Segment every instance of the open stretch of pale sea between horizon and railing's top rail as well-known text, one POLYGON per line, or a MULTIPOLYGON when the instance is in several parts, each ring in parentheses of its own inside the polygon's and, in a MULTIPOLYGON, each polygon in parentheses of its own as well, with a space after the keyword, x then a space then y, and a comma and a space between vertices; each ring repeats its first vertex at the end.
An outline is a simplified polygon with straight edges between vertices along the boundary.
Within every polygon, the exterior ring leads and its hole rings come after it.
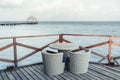
POLYGON ((120 22, 40 22, 37 25, 0 26, 0 37, 53 33, 120 35, 120 22))

